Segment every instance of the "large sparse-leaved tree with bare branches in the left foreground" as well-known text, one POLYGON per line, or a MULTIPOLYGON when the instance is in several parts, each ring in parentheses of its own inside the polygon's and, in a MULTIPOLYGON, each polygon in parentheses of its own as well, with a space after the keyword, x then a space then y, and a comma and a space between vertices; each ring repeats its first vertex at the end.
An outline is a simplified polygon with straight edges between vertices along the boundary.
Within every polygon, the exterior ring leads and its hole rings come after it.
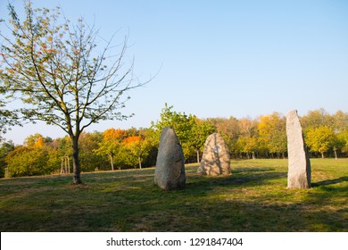
POLYGON ((128 99, 123 94, 142 85, 133 80, 133 63, 125 66, 127 38, 118 52, 111 41, 99 49, 104 40, 94 26, 83 19, 76 25, 62 19, 59 8, 34 9, 25 2, 24 21, 11 4, 9 11, 9 32, 0 33, 1 89, 21 101, 13 112, 56 125, 69 135, 73 182, 79 184, 82 131, 98 121, 126 119, 120 113, 128 99))

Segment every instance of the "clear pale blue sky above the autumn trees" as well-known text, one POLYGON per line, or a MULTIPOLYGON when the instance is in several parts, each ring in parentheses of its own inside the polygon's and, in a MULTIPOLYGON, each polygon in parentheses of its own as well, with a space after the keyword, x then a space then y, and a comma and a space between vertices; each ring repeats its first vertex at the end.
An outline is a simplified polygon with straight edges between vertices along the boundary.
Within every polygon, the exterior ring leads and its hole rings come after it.
MULTIPOLYGON (((0 0, 0 17, 7 15, 0 0)), ((10 0, 16 9, 22 2, 10 0)), ((129 35, 135 73, 148 79, 134 90, 124 113, 88 129, 149 127, 164 103, 199 118, 242 118, 297 109, 300 115, 348 107, 348 1, 33 1, 60 5, 70 21, 95 20, 100 35, 129 35)), ((116 37, 117 38, 117 37, 116 37)), ((120 40, 115 40, 120 43, 120 40)), ((61 137, 39 124, 13 128, 5 137, 21 144, 41 133, 61 137)))

